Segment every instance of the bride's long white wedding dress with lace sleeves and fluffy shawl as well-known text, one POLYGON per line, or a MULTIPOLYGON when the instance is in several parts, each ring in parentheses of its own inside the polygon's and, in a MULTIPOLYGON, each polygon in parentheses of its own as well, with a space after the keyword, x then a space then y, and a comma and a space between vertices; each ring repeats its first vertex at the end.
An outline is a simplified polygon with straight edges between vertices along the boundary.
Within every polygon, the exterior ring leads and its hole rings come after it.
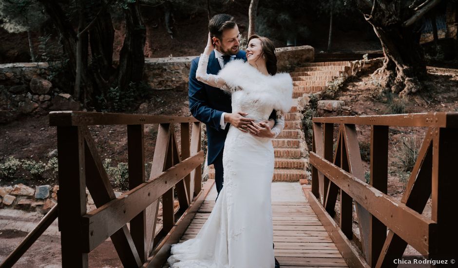
MULTIPOLYGON (((231 94, 232 111, 267 120, 290 110, 292 80, 288 74, 265 76, 242 60, 208 75, 202 55, 197 79, 231 94)), ((278 116, 272 131, 284 127, 278 116)), ((172 268, 274 268, 270 187, 274 152, 270 138, 260 138, 230 126, 223 152, 224 186, 207 222, 193 239, 172 245, 172 268)))

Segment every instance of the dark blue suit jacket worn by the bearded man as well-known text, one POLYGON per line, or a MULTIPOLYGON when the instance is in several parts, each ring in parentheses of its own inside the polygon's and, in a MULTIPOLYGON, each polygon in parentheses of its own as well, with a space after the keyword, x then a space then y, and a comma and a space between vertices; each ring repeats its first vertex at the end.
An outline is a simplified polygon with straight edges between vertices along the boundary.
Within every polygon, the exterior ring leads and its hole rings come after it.
MULTIPOLYGON (((247 60, 245 51, 239 51, 235 58, 247 60)), ((191 69, 189 73, 189 109, 192 116, 197 120, 207 125, 208 138, 208 164, 211 165, 216 156, 224 148, 224 141, 228 134, 229 126, 224 130, 221 129, 220 119, 223 112, 231 113, 232 106, 230 95, 223 90, 211 87, 205 83, 198 81, 195 78, 197 64, 200 57, 196 57, 191 61, 191 69)), ((221 70, 218 59, 215 58, 214 51, 209 56, 209 64, 207 73, 216 75, 221 70)), ((274 118, 275 111, 272 112, 269 118, 274 118)))

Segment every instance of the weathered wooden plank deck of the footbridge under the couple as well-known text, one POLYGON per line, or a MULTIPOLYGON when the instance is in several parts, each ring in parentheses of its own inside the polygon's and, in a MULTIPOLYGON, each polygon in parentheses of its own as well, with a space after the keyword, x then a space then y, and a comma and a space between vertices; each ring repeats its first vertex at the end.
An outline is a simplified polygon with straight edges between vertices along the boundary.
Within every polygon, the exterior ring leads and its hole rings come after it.
MULTIPOLYGON (((210 191, 180 243, 196 236, 215 204, 210 191)), ((348 267, 322 223, 304 202, 272 202, 275 257, 281 268, 348 267)), ((164 266, 168 267, 168 266, 164 266)))

